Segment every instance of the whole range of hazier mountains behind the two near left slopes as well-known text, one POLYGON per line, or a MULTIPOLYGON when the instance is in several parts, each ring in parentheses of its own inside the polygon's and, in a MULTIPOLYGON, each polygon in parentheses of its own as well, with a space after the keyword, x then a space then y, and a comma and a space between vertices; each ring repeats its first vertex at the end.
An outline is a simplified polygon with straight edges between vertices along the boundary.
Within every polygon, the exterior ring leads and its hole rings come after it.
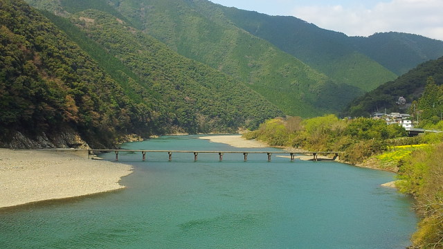
POLYGON ((425 37, 347 37, 295 17, 271 17, 207 0, 27 1, 64 17, 87 9, 107 12, 179 54, 244 82, 289 115, 337 112, 365 91, 443 55, 443 42, 425 37))

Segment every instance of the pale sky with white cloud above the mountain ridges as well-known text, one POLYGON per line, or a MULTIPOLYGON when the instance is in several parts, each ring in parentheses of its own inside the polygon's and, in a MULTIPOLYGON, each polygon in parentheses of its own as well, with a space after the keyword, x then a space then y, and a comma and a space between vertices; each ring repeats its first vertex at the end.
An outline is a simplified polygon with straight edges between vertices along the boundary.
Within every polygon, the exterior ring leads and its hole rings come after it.
POLYGON ((443 0, 210 0, 268 15, 294 16, 349 36, 401 32, 443 40, 443 0))

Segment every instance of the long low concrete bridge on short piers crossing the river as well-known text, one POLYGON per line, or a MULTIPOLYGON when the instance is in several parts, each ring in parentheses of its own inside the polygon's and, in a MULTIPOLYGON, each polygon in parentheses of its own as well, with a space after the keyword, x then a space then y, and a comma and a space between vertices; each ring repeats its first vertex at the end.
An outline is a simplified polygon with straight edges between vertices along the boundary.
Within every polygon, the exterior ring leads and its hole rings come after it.
POLYGON ((268 156, 268 161, 271 161, 272 154, 283 154, 289 155, 291 161, 295 160, 296 154, 310 154, 313 156, 312 160, 317 161, 318 155, 334 155, 334 158, 337 158, 340 154, 343 154, 342 151, 297 151, 297 152, 289 152, 289 151, 164 151, 164 150, 142 150, 142 149, 89 149, 88 158, 91 158, 95 153, 102 152, 114 152, 116 154, 116 161, 118 161, 118 153, 119 152, 138 152, 141 153, 142 160, 146 160, 146 154, 148 153, 168 153, 168 160, 172 160, 172 154, 174 153, 185 153, 185 154, 193 154, 194 160, 197 161, 199 154, 218 154, 219 160, 223 160, 224 154, 243 154, 244 160, 248 160, 248 154, 266 154, 268 156))

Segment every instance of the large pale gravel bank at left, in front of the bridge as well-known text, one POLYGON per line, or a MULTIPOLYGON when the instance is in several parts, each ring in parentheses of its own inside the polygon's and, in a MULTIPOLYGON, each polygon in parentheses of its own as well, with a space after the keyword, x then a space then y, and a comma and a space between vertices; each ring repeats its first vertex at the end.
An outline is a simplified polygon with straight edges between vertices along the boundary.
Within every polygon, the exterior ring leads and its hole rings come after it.
POLYGON ((87 151, 0 149, 0 208, 118 190, 130 165, 87 158, 87 151))

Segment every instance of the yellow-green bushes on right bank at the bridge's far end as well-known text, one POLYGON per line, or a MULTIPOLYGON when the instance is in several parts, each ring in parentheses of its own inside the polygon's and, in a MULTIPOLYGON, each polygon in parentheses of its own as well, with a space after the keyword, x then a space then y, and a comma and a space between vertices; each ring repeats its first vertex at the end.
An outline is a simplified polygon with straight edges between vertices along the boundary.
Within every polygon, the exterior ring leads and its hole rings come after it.
MULTIPOLYGON (((298 117, 267 120, 260 128, 244 134, 271 146, 311 151, 345 151, 343 160, 356 164, 388 149, 388 139, 406 136, 406 130, 383 120, 338 119, 334 115, 302 120, 298 117)), ((405 140, 406 142, 406 140, 405 140)))

